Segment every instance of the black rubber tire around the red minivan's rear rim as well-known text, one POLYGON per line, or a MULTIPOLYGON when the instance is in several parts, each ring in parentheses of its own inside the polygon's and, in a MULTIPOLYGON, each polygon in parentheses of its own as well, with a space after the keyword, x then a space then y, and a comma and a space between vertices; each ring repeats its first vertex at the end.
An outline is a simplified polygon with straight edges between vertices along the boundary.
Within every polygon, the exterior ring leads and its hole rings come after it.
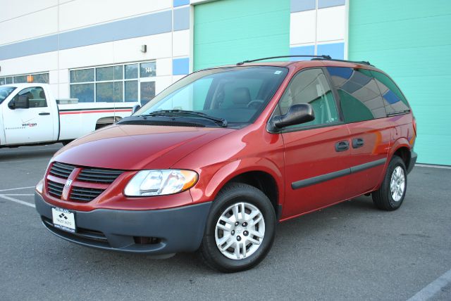
POLYGON ((373 197, 373 203, 381 210, 387 210, 387 211, 393 211, 397 210, 397 208, 401 207, 402 202, 404 201, 404 197, 406 195, 407 191, 407 171, 406 166, 404 164, 404 161, 398 157, 397 155, 394 155, 390 163, 387 167, 387 172, 385 173, 385 177, 383 179, 381 187, 377 191, 373 191, 371 193, 371 196, 373 197), (395 171, 397 167, 401 167, 402 171, 404 172, 404 192, 402 193, 402 196, 400 200, 394 200, 392 197, 392 193, 390 191, 390 181, 392 178, 392 174, 395 171))

